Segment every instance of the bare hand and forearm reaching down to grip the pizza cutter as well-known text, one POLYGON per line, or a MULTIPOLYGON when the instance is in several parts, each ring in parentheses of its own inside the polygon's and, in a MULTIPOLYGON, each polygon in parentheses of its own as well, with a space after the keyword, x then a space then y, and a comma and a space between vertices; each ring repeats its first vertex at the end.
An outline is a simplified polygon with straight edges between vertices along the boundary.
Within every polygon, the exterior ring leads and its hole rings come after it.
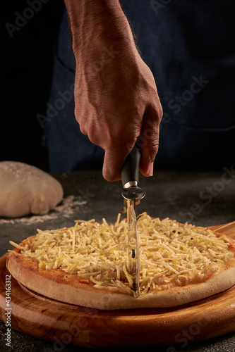
POLYGON ((105 151, 104 179, 116 181, 121 179, 123 162, 139 136, 140 171, 152 175, 162 107, 154 77, 140 58, 125 15, 118 5, 110 11, 108 18, 105 11, 102 13, 102 21, 97 17, 85 19, 90 23, 83 23, 85 38, 80 34, 78 40, 72 23, 71 28, 76 57, 76 120, 81 132, 105 151))

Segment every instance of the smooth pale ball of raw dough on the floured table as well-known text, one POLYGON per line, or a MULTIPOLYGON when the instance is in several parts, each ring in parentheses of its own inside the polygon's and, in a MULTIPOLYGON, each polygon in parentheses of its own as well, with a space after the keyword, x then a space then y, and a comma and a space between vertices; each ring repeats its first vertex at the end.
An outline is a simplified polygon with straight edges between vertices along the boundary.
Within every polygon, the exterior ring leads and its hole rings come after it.
POLYGON ((47 172, 17 161, 0 162, 0 216, 46 214, 63 195, 61 184, 47 172))

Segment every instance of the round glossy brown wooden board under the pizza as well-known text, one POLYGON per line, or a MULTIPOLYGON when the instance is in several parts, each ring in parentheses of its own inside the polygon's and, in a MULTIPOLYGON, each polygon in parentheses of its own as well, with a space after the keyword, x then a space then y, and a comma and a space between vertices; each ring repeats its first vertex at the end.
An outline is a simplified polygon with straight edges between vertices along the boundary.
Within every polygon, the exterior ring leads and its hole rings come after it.
MULTIPOLYGON (((235 222, 210 228, 235 239, 235 222)), ((0 272, 0 319, 6 322, 6 313, 11 311, 13 329, 54 341, 56 351, 67 344, 93 348, 183 348, 191 341, 235 331, 235 287, 176 308, 97 310, 46 298, 26 289, 11 276, 11 310, 7 310, 6 254, 0 258, 0 272)))

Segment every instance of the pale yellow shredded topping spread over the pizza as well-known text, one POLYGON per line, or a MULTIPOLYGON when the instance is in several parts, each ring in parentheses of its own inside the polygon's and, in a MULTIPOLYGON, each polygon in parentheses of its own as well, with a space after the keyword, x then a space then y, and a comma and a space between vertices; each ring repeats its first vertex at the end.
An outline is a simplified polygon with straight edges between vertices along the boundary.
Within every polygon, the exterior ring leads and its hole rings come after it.
MULTIPOLYGON (((76 220, 74 227, 38 230, 25 246, 10 241, 24 256, 37 258, 40 270, 61 269, 90 280, 95 288, 108 287, 135 296, 128 273, 126 220, 120 214, 114 225, 76 220)), ((181 275, 201 275, 217 270, 234 258, 231 239, 218 238, 211 230, 175 220, 138 217, 140 241, 140 296, 164 289, 181 275)))

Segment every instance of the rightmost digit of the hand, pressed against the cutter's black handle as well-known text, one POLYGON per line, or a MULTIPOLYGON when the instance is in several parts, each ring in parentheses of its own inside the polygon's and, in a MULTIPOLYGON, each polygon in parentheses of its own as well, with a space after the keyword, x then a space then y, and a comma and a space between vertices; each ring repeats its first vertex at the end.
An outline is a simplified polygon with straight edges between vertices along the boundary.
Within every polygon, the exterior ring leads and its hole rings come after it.
POLYGON ((159 122, 156 110, 148 108, 143 118, 139 140, 142 153, 140 172, 144 176, 153 175, 153 163, 159 146, 159 122))

